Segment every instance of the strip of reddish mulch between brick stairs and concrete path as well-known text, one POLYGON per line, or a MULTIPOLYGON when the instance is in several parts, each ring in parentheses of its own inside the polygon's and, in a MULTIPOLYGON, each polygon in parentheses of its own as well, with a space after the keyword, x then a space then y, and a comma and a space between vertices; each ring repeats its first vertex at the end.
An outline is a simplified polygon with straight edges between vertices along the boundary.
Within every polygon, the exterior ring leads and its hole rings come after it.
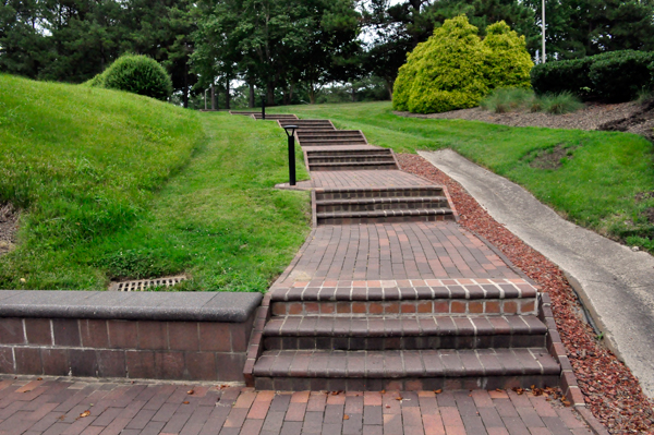
POLYGON ((549 292, 559 334, 586 406, 611 434, 654 433, 654 402, 638 379, 596 338, 580 316, 581 306, 562 271, 493 219, 456 181, 420 156, 399 154, 402 170, 446 185, 459 223, 500 250, 517 267, 549 292))

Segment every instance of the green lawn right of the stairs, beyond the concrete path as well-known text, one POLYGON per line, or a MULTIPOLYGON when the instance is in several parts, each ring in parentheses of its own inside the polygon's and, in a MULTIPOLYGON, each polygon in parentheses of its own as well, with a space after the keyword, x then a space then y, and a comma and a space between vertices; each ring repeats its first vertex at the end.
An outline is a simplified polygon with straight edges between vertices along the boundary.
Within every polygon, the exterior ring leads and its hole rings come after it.
POLYGON ((269 112, 328 118, 337 128, 362 130, 372 144, 397 153, 452 148, 521 184, 578 225, 654 253, 653 145, 641 136, 402 118, 392 114, 390 102, 292 106, 269 112), (560 168, 530 165, 557 146, 571 157, 560 168))

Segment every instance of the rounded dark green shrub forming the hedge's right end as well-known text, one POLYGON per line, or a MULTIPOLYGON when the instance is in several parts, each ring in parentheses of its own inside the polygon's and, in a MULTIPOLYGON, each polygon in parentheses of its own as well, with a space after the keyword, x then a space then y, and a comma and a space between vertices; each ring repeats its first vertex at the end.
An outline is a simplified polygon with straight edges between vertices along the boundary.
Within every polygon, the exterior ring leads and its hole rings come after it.
POLYGON ((651 88, 652 74, 647 67, 654 61, 654 53, 623 50, 594 58, 589 77, 600 97, 628 101, 651 88))

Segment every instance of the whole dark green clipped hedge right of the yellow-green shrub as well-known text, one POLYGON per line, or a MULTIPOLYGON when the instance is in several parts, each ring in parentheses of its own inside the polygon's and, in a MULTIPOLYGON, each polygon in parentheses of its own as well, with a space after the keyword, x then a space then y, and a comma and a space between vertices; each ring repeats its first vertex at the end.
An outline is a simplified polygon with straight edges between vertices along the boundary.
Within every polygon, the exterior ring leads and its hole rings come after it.
POLYGON ((654 53, 634 50, 553 61, 532 69, 532 87, 538 95, 569 92, 582 99, 628 101, 652 89, 653 61, 654 53))

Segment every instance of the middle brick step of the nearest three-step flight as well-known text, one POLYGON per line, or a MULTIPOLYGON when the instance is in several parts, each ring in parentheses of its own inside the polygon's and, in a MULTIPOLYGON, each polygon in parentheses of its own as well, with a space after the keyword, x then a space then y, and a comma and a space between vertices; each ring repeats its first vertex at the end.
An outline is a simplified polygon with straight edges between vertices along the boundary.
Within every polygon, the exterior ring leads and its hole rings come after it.
POLYGON ((399 350, 538 348, 547 327, 536 316, 277 316, 265 349, 399 350))

